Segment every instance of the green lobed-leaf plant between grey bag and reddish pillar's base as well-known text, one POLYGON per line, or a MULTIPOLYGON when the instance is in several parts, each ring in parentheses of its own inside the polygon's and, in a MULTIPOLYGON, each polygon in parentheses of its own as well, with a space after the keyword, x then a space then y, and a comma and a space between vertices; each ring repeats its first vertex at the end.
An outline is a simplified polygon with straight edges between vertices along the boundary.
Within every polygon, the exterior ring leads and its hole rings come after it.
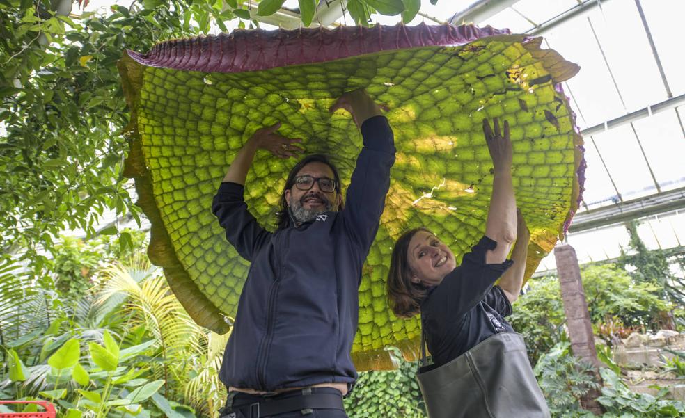
POLYGON ((581 408, 580 399, 590 390, 599 388, 592 365, 581 362, 569 349, 567 342, 556 344, 535 364, 535 376, 554 417, 590 414, 581 408))

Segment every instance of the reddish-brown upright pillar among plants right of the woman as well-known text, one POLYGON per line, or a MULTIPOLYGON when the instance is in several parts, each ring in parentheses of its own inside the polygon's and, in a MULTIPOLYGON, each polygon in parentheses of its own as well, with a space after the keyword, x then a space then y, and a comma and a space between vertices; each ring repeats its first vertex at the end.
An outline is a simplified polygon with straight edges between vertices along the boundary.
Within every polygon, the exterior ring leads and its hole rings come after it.
MULTIPOLYGON (((588 302, 585 300, 576 250, 568 244, 558 245, 554 248, 554 258, 561 286, 561 298, 566 312, 571 351, 576 357, 595 366, 595 376, 601 381, 595 335, 592 334, 592 321, 590 321, 588 302)), ((581 405, 595 415, 601 415, 601 405, 597 402, 597 397, 599 397, 599 391, 593 389, 581 398, 581 405)))

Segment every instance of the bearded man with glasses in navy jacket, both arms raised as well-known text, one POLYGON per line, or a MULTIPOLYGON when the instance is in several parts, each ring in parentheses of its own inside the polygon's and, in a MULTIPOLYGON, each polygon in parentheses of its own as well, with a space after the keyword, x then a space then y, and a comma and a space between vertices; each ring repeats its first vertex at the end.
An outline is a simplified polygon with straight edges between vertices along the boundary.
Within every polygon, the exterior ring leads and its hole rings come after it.
POLYGON ((345 195, 322 154, 299 161, 281 193, 278 226, 265 230, 247 210, 244 184, 256 150, 297 156, 299 140, 280 124, 258 129, 236 154, 212 211, 226 239, 251 262, 219 376, 229 396, 222 417, 347 417, 342 396, 357 374, 350 351, 357 327, 361 269, 378 230, 393 132, 364 90, 342 95, 363 148, 345 195))

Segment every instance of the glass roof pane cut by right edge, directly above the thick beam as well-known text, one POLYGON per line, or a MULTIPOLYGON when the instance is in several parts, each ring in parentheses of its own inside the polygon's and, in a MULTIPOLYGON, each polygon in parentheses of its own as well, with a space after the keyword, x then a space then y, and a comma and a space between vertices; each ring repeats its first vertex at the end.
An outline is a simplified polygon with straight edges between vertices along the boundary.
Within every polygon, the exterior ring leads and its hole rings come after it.
POLYGON ((685 140, 675 110, 637 120, 634 125, 661 190, 685 186, 685 140))

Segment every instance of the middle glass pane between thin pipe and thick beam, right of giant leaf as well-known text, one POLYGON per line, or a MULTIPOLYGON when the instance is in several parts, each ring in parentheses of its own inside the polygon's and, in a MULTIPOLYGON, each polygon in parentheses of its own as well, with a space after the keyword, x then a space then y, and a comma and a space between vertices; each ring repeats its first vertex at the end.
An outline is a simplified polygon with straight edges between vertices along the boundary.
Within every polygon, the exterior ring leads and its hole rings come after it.
POLYGON ((629 124, 602 132, 594 138, 623 200, 656 193, 647 163, 629 124))

